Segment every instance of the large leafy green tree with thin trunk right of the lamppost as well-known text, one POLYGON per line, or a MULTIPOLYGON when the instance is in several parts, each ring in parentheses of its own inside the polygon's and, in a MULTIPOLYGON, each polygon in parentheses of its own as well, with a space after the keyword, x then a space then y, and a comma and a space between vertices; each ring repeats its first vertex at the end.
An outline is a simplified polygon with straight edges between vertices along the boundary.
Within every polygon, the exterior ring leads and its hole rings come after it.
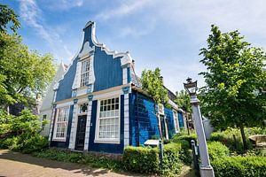
POLYGON ((207 48, 200 52, 200 62, 207 66, 207 72, 200 73, 207 84, 200 96, 213 126, 239 127, 246 150, 244 127, 261 125, 266 115, 266 57, 243 39, 239 31, 222 33, 212 26, 207 48))

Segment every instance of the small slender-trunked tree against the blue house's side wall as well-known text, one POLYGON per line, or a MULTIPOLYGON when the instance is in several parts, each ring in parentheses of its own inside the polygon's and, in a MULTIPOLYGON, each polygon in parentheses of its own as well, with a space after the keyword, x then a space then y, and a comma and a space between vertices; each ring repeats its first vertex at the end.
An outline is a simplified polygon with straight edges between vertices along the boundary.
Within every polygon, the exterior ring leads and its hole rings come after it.
MULTIPOLYGON (((160 78, 160 69, 155 68, 152 70, 144 70, 141 74, 142 89, 144 89, 149 96, 153 98, 154 110, 156 110, 156 104, 168 104, 168 90, 163 87, 160 78)), ((160 115, 157 113, 158 127, 160 132, 160 139, 162 139, 160 128, 160 115)))

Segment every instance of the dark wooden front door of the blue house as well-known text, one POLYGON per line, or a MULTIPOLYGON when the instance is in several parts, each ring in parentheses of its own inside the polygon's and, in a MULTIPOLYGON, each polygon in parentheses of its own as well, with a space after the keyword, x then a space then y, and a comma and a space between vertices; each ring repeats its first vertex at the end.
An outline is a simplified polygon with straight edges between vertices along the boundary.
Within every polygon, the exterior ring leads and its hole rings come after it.
POLYGON ((86 120, 86 115, 78 117, 74 150, 84 150, 86 120))

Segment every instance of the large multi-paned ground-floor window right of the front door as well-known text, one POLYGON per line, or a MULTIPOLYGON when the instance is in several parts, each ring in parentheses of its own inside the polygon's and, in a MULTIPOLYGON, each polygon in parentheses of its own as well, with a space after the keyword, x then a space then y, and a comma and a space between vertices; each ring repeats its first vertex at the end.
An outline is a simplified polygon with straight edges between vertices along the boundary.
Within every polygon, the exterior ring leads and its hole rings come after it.
POLYGON ((99 101, 97 141, 120 140, 120 100, 114 97, 99 101))

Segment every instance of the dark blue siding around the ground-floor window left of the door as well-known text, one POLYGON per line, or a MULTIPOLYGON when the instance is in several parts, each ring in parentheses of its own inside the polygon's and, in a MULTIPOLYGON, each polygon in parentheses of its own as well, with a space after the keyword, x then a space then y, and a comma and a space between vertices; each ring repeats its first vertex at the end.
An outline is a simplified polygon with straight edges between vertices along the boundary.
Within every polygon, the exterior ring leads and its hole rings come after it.
MULTIPOLYGON (((68 122, 67 122, 66 142, 51 141, 51 144, 50 144, 51 147, 68 148, 70 132, 71 132, 71 123, 72 123, 72 119, 73 119, 73 109, 74 109, 74 105, 71 105, 70 109, 69 109, 68 122)), ((53 125, 55 124, 55 121, 56 121, 56 119, 54 119, 53 125)), ((52 136, 54 134, 53 129, 54 128, 52 128, 52 132, 51 132, 51 140, 52 140, 52 136)))

